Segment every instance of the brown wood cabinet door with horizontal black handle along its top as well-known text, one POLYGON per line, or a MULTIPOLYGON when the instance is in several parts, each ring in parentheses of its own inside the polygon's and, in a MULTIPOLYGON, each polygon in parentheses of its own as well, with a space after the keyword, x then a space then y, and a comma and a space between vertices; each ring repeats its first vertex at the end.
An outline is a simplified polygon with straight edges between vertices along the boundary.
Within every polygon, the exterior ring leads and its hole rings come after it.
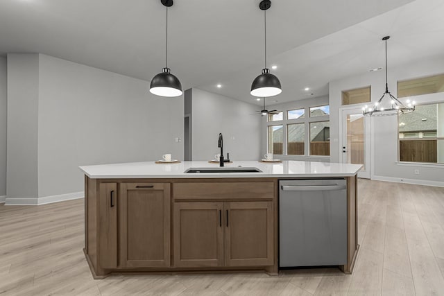
POLYGON ((170 265, 170 188, 169 183, 121 183, 122 267, 170 265))

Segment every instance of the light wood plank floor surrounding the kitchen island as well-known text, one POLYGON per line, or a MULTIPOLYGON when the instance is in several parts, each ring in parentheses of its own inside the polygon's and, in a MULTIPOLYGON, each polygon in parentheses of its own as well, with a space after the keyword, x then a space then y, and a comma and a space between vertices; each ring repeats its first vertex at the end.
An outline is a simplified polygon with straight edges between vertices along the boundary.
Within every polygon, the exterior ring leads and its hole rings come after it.
POLYGON ((444 188, 359 180, 353 275, 336 268, 92 279, 83 200, 0 205, 1 295, 444 295, 444 188))

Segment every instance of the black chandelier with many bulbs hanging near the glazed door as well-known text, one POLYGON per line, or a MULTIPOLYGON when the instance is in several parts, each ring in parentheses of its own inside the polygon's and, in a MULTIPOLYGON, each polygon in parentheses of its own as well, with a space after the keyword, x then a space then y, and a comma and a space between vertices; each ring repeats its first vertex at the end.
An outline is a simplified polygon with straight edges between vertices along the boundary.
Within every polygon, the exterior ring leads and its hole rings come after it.
POLYGON ((386 42, 386 92, 382 94, 382 97, 373 106, 365 106, 362 108, 362 114, 364 116, 389 116, 398 114, 407 114, 415 111, 415 101, 410 102, 407 100, 407 107, 395 98, 390 92, 388 92, 387 82, 387 40, 390 36, 382 38, 386 42))

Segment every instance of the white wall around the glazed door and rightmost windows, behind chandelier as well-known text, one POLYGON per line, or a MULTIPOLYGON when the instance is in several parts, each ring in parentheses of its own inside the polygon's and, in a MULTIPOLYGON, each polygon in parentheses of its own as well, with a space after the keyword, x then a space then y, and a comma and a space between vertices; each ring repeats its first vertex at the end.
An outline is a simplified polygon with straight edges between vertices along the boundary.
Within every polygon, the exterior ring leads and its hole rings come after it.
MULTIPOLYGON (((388 68, 388 89, 397 96, 397 81, 419 78, 444 73, 444 58, 431 58, 403 67, 388 68)), ((339 114, 341 107, 341 92, 358 87, 371 86, 372 102, 377 101, 384 93, 385 73, 378 71, 364 73, 330 82, 330 137, 339 139, 339 114)), ((443 93, 415 96, 420 103, 444 102, 443 93)), ((359 106, 358 106, 359 107, 359 106)), ((398 164, 398 119, 396 116, 370 118, 370 141, 372 150, 371 177, 374 180, 389 180, 396 182, 411 182, 418 184, 436 184, 444 186, 444 166, 398 164), (414 170, 420 171, 419 175, 414 170)), ((339 161, 339 145, 331 146, 331 161, 339 161)))

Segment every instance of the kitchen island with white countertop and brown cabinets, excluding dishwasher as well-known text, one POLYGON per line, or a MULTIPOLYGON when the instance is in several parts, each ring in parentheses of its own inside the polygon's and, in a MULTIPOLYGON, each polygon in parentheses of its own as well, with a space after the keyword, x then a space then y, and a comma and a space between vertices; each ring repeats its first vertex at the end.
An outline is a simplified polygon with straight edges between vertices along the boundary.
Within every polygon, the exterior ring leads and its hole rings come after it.
POLYGON ((94 278, 126 272, 278 273, 279 180, 342 178, 347 186, 346 263, 357 255, 355 164, 225 164, 260 172, 185 173, 208 162, 81 166, 85 173, 85 255, 94 278))

